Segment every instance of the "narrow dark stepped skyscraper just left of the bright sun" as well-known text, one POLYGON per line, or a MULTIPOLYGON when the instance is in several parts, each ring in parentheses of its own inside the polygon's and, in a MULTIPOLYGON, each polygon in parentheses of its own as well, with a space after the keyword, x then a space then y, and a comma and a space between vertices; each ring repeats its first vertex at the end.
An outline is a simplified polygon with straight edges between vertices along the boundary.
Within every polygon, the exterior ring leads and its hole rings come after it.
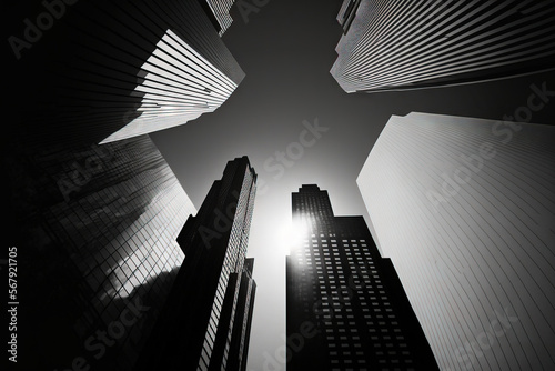
POLYGON ((256 173, 228 162, 178 243, 185 253, 170 299, 137 370, 240 370, 254 300, 245 262, 256 173), (238 347, 239 344, 239 347, 238 347))

